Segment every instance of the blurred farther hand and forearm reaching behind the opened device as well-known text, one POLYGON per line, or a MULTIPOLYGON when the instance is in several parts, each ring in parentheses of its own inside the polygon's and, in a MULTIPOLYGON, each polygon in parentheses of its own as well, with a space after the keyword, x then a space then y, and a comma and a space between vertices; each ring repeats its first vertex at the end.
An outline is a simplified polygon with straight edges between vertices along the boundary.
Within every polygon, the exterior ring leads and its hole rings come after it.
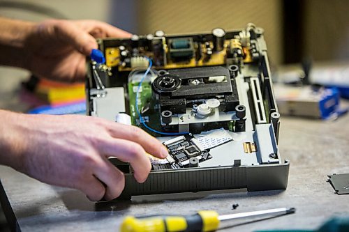
POLYGON ((46 20, 35 24, 0 17, 0 65, 30 70, 38 77, 83 81, 85 59, 95 38, 128 38, 130 33, 94 20, 46 20))

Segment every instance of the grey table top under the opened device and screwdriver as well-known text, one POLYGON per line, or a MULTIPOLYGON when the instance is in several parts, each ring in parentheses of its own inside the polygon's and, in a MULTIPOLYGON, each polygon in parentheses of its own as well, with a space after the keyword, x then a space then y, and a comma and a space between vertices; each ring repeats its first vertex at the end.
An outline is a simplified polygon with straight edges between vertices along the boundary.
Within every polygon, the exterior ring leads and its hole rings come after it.
POLYGON ((226 222, 222 226, 233 227, 223 231, 316 229, 332 215, 349 216, 349 194, 335 194, 326 182, 328 174, 349 173, 348 125, 349 115, 331 122, 281 118, 279 148, 290 160, 284 191, 168 194, 92 203, 81 192, 40 183, 8 167, 0 167, 0 177, 22 231, 119 231, 126 215, 184 215, 198 210, 223 215, 279 207, 295 207, 297 212, 251 224, 226 222), (239 208, 232 210, 232 203, 239 203, 239 208))

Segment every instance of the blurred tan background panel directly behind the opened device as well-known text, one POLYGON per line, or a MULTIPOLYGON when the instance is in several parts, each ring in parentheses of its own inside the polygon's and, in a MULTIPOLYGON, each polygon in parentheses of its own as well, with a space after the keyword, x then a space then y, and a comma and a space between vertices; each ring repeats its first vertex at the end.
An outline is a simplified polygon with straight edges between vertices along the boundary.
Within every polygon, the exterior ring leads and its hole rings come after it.
POLYGON ((282 1, 140 1, 138 4, 140 33, 188 33, 244 28, 248 22, 265 29, 272 63, 282 61, 282 1))

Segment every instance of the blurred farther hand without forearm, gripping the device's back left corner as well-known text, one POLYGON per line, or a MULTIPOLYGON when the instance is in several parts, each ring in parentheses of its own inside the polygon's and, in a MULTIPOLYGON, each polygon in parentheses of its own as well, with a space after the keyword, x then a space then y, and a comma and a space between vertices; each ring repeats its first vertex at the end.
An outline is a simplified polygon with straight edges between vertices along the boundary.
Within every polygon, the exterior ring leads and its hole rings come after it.
POLYGON ((26 68, 38 77, 81 82, 86 74, 86 56, 98 48, 95 38, 130 36, 94 20, 47 20, 36 24, 24 42, 26 68))

